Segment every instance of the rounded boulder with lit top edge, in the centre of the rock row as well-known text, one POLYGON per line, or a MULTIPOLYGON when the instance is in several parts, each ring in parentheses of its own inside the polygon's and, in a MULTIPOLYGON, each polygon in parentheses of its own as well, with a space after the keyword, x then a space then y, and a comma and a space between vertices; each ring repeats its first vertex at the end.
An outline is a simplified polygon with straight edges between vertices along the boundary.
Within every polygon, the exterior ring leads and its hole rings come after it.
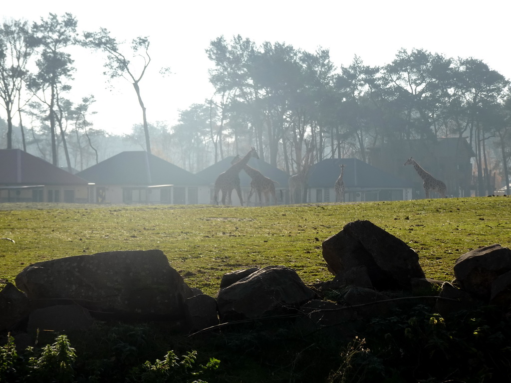
POLYGON ((221 322, 228 322, 295 312, 315 297, 294 270, 267 266, 220 289, 217 303, 221 322))

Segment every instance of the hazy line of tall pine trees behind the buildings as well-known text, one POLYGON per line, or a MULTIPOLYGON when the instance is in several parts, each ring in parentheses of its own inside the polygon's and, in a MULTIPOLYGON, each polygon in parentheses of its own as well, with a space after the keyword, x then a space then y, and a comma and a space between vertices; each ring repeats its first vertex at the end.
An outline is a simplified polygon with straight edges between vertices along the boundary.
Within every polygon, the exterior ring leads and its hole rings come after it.
POLYGON ((310 53, 221 36, 205 52, 214 94, 181 111, 178 124, 168 127, 148 122, 141 95, 149 47, 147 37, 137 37, 127 49, 103 28, 79 35, 68 13, 32 25, 4 21, 0 98, 6 124, 0 124, 0 145, 37 148, 54 164, 63 158, 79 170, 111 155, 112 148, 136 147, 192 172, 254 146, 261 158, 296 174, 306 162, 324 158, 366 161, 368 148, 390 141, 465 137, 476 153, 481 189, 497 169, 509 183, 509 81, 481 60, 402 49, 384 66, 364 65, 355 56, 349 66, 336 68, 326 49, 310 53), (94 95, 84 95, 78 105, 66 99, 75 73, 70 46, 103 52, 105 73, 132 84, 142 124, 135 123, 130 134, 118 137, 90 126, 94 95))

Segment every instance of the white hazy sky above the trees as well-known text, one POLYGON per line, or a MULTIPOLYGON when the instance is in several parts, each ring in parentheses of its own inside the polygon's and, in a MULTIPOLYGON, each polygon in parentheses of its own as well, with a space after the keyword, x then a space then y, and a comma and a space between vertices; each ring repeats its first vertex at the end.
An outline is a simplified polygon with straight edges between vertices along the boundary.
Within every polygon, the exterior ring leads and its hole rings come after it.
MULTIPOLYGON (((49 13, 72 13, 81 31, 104 27, 118 40, 149 36, 152 61, 141 82, 150 123, 177 122, 179 111, 211 98, 213 88, 205 49, 224 35, 240 34, 258 45, 285 42, 309 52, 330 50, 336 67, 348 66, 355 55, 366 65, 390 63, 401 48, 425 49, 447 57, 483 60, 511 78, 509 14, 511 2, 458 0, 143 0, 2 2, 0 18, 39 21, 49 13), (172 75, 158 71, 170 67, 172 75)), ((135 92, 126 80, 107 89, 99 54, 73 55, 77 71, 69 98, 76 103, 94 94, 94 127, 123 134, 142 123, 135 92)), ((0 109, 0 116, 5 117, 0 109)))

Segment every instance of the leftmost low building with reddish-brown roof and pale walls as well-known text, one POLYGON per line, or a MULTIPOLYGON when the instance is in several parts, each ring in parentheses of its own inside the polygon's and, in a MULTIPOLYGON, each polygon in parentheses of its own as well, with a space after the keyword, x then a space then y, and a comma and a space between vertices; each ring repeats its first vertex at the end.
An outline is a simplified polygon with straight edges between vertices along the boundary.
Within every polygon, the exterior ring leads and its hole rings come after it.
POLYGON ((89 202, 88 181, 19 149, 0 150, 0 202, 89 202))

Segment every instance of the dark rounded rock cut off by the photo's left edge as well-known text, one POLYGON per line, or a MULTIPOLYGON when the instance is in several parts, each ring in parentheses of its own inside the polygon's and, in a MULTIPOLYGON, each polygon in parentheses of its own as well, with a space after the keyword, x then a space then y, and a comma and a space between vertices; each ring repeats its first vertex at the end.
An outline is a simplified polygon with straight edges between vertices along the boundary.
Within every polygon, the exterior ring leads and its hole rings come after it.
POLYGON ((25 319, 30 313, 28 298, 16 289, 12 283, 7 283, 0 291, 0 331, 10 330, 16 323, 25 319))

